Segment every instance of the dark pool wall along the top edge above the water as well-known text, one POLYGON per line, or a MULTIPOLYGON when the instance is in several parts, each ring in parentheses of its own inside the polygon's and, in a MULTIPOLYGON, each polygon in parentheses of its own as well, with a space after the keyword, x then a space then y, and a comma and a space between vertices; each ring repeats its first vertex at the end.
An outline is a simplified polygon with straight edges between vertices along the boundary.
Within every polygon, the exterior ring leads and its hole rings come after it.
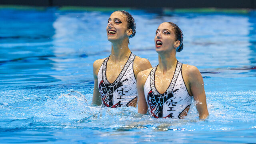
POLYGON ((3 5, 29 6, 99 6, 139 8, 251 8, 256 9, 256 0, 0 0, 3 5))

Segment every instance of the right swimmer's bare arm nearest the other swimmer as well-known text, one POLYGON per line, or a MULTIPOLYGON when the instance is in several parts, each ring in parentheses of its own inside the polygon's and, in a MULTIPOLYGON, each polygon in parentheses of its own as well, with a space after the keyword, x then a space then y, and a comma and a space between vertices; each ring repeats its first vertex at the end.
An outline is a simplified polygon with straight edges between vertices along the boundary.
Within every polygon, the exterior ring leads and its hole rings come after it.
POLYGON ((145 75, 144 72, 139 72, 137 75, 138 113, 140 114, 146 114, 148 112, 148 105, 144 96, 145 75))

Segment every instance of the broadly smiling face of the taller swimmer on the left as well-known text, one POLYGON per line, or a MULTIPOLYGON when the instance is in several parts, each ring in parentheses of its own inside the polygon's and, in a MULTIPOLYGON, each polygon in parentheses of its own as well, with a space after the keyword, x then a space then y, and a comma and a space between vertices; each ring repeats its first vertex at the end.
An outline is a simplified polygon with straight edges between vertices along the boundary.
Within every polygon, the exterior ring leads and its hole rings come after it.
POLYGON ((127 29, 126 16, 122 12, 113 12, 108 19, 108 26, 106 28, 108 41, 116 42, 118 40, 127 39, 132 34, 131 29, 127 29))

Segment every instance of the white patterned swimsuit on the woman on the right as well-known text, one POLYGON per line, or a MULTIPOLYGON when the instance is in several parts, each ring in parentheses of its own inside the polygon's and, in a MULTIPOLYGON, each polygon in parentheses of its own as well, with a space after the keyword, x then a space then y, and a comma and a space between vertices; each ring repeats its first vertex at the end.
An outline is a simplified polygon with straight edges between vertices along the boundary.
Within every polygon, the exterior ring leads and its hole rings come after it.
POLYGON ((160 94, 155 87, 156 68, 151 70, 144 85, 148 111, 155 118, 180 118, 180 114, 192 102, 182 77, 182 63, 177 62, 172 82, 164 94, 160 94))

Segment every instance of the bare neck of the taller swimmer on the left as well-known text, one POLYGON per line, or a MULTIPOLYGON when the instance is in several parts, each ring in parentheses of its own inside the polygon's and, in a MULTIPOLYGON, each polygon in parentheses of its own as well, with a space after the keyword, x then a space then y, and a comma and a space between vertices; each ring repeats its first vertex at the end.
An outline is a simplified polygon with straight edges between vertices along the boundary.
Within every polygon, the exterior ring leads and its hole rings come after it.
POLYGON ((109 60, 113 62, 120 62, 126 60, 126 57, 129 57, 131 51, 128 47, 128 43, 112 43, 111 55, 109 60))

